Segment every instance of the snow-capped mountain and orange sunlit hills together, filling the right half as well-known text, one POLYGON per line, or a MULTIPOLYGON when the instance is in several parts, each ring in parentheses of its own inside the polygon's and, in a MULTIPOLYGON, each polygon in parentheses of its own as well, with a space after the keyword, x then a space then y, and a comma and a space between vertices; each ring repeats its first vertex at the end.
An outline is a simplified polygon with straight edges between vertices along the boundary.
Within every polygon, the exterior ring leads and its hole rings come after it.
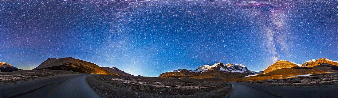
POLYGON ((294 75, 317 74, 325 72, 338 72, 338 62, 327 58, 310 60, 303 64, 292 63, 279 60, 270 65, 264 71, 255 72, 248 70, 242 64, 216 63, 214 65, 202 65, 196 70, 178 69, 172 72, 162 73, 162 78, 217 78, 230 80, 255 80, 255 79, 274 79, 287 78, 294 75), (237 79, 237 78, 251 79, 237 79))

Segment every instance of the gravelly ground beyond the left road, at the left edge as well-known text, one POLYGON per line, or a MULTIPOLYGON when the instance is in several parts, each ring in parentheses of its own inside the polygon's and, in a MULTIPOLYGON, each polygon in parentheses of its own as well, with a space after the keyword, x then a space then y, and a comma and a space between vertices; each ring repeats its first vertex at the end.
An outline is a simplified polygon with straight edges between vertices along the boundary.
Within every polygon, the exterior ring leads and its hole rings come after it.
POLYGON ((0 72, 0 85, 63 74, 82 73, 65 70, 18 70, 13 72, 0 72))

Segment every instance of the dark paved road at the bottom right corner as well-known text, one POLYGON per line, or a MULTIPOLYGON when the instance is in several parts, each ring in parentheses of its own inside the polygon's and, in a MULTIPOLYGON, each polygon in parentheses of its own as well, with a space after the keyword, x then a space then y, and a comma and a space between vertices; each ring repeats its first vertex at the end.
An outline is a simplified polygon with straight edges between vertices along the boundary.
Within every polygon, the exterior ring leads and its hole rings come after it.
POLYGON ((338 87, 291 88, 232 82, 230 98, 337 98, 338 87))

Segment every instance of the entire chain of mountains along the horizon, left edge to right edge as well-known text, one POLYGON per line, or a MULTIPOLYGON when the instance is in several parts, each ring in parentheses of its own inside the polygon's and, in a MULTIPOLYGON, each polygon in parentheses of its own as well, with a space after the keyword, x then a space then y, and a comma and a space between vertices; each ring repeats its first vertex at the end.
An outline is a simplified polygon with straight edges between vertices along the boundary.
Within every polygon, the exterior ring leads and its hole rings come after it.
MULTIPOLYGON (((82 73, 96 73, 116 76, 132 76, 116 67, 99 67, 98 65, 74 58, 48 58, 33 70, 69 70, 82 73)), ((0 72, 21 70, 7 63, 0 62, 0 72)), ((242 64, 216 63, 214 65, 201 65, 195 70, 177 69, 159 75, 161 78, 215 78, 224 80, 264 80, 276 78, 289 78, 294 75, 317 74, 325 72, 338 72, 338 62, 328 58, 312 59, 302 64, 279 60, 264 71, 248 70, 242 64)), ((141 75, 138 75, 141 76, 141 75)))

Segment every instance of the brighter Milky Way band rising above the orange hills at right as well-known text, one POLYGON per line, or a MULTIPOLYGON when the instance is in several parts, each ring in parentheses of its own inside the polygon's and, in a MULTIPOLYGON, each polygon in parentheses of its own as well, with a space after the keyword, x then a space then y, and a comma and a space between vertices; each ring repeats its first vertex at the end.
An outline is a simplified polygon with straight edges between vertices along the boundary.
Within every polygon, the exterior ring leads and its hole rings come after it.
POLYGON ((280 45, 280 50, 287 51, 290 31, 286 31, 287 12, 293 8, 293 2, 289 1, 237 1, 232 2, 240 9, 252 16, 252 20, 259 20, 261 31, 265 35, 268 51, 271 53, 271 62, 280 59, 276 45, 280 45))

